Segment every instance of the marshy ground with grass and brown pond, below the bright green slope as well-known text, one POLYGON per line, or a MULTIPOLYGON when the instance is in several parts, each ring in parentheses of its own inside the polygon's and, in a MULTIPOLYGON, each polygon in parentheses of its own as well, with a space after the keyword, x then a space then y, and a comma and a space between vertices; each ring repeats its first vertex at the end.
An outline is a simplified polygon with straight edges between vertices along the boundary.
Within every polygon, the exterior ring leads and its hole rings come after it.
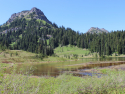
POLYGON ((40 92, 55 94, 55 92, 59 93, 61 90, 65 94, 66 92, 69 94, 71 91, 76 92, 76 94, 88 91, 92 93, 95 90, 95 92, 106 93, 115 90, 115 88, 121 91, 124 90, 124 88, 119 88, 119 86, 124 87, 121 84, 121 82, 124 83, 125 77, 123 75, 125 73, 124 61, 124 57, 94 58, 92 55, 85 56, 85 53, 82 58, 79 55, 77 59, 62 58, 61 54, 59 57, 51 56, 41 60, 34 53, 7 50, 0 54, 0 82, 2 82, 0 86, 3 88, 0 91, 12 92, 13 88, 16 88, 17 92, 22 92, 22 90, 35 92, 33 90, 38 89, 38 87, 42 88, 39 89, 39 94, 40 92), (119 69, 123 71, 117 71, 119 69), (113 81, 114 78, 115 81, 113 81), (21 83, 24 84, 23 88, 21 83), (4 88, 8 88, 8 85, 12 87, 7 91, 4 90, 4 88), (13 85, 16 85, 16 87, 13 85), (108 89, 104 88, 107 86, 108 89), (100 90, 98 90, 98 87, 100 87, 100 90), (19 88, 22 88, 22 90, 19 91, 19 88), (53 90, 50 91, 48 88, 53 88, 53 90))

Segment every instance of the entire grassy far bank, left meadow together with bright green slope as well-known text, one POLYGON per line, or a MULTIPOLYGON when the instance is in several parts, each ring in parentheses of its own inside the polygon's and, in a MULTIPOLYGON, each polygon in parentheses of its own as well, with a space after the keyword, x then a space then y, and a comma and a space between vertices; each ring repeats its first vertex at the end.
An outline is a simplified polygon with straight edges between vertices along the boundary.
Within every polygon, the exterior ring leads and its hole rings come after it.
POLYGON ((40 58, 36 57, 37 54, 35 54, 35 53, 26 52, 26 51, 22 51, 22 50, 6 50, 6 51, 3 51, 2 54, 0 54, 0 62, 9 61, 12 63, 31 63, 31 62, 37 63, 37 62, 55 62, 56 61, 56 63, 58 63, 61 61, 62 62, 65 61, 64 64, 68 65, 69 61, 72 61, 72 62, 70 62, 71 64, 79 64, 79 63, 84 62, 83 61, 84 58, 93 58, 94 57, 94 53, 92 55, 89 52, 89 50, 77 48, 75 46, 71 47, 70 45, 63 46, 63 47, 57 47, 54 49, 54 53, 57 56, 48 56, 47 58, 43 58, 43 60, 41 61, 40 58), (17 55, 16 55, 16 53, 17 53, 17 55), (90 53, 90 54, 88 55, 88 53, 90 53), (78 58, 74 58, 73 54, 77 54, 78 58), (68 58, 68 56, 70 56, 70 58, 68 58), (74 61, 74 60, 78 60, 80 58, 83 58, 82 62, 74 61))

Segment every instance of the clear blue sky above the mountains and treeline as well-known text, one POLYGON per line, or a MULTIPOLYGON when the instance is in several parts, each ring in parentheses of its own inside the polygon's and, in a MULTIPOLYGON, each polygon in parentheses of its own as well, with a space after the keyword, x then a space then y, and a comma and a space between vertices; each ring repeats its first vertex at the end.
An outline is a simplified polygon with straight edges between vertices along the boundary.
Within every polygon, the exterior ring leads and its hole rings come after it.
POLYGON ((58 26, 82 33, 91 27, 125 30, 125 0, 0 0, 0 25, 13 13, 32 7, 58 26))

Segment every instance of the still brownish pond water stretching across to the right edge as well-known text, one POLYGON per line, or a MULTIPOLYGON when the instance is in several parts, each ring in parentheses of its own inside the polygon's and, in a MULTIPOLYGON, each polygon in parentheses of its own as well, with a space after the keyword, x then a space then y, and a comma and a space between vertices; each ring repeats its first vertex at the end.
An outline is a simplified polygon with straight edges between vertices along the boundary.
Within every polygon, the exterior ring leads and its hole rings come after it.
MULTIPOLYGON (((25 75, 35 75, 35 76, 58 76, 59 74, 62 74, 63 71, 65 70, 71 70, 71 71, 76 71, 76 70, 82 70, 82 69, 90 69, 94 67, 107 67, 107 66, 112 66, 112 65, 120 65, 120 64, 125 64, 125 57, 109 57, 109 58, 86 58, 86 59, 80 59, 77 61, 64 61, 64 62, 54 62, 54 63, 47 63, 47 64, 18 64, 15 68, 16 73, 21 73, 25 75), (111 63, 99 63, 102 61, 112 61, 111 63), (114 61, 123 61, 123 62, 114 62, 114 61), (74 68, 66 68, 68 65, 73 65, 73 64, 83 64, 87 62, 94 62, 96 64, 89 64, 87 66, 73 66, 74 68), (97 64, 99 63, 99 64, 97 64)), ((11 73, 11 71, 14 68, 8 68, 4 72, 5 73, 11 73)), ((92 73, 80 73, 83 75, 89 75, 92 76, 92 73)))

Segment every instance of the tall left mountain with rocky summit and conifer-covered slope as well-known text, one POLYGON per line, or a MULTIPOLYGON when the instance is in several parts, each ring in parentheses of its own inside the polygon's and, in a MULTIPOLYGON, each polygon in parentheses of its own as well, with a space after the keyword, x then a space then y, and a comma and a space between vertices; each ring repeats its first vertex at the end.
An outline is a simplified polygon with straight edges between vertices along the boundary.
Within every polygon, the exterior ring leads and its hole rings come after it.
MULTIPOLYGON (((53 43, 47 44, 52 37, 52 30, 56 29, 44 13, 32 8, 11 15, 6 24, 0 26, 0 49, 17 49, 43 55, 53 54, 53 43)), ((51 40, 50 40, 51 41, 51 40)))

